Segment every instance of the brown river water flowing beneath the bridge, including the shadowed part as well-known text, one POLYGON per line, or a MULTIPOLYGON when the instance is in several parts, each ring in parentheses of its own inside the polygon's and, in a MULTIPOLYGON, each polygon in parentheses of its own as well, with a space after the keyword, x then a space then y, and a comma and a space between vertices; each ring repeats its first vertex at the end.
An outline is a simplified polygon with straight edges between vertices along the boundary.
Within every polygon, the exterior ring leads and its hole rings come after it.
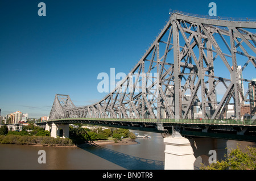
MULTIPOLYGON (((0 170, 163 170, 164 143, 162 135, 152 132, 151 138, 136 138, 135 145, 82 145, 80 147, 51 147, 0 144, 0 170), (46 151, 46 163, 38 163, 39 150, 46 151)), ((228 141, 236 148, 237 141, 228 141)), ((254 142, 241 142, 255 145, 254 142)), ((200 159, 197 159, 200 165, 200 159)), ((198 169, 198 166, 195 167, 198 169)))

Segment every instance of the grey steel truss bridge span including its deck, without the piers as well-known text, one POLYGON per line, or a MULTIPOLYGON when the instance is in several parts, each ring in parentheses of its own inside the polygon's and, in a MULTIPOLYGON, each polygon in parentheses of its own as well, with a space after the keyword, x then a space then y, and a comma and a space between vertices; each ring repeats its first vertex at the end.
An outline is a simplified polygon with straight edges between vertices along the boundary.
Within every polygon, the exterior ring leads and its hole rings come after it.
POLYGON ((256 22, 249 20, 174 12, 114 90, 83 107, 76 107, 69 95, 56 94, 48 123, 137 125, 158 131, 175 125, 183 134, 225 132, 255 141, 256 106, 250 120, 241 116, 245 102, 256 104, 250 96, 256 82, 242 77, 249 67, 256 76, 255 30, 256 22), (245 92, 242 85, 248 86, 245 92), (224 120, 229 105, 234 120, 224 120), (195 119, 198 108, 201 120, 195 119))

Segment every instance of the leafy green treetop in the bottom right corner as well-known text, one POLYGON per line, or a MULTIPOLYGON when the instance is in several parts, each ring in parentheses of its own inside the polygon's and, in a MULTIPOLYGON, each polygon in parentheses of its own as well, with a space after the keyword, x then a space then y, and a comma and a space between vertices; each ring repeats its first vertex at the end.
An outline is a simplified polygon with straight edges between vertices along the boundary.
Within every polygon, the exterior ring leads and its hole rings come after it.
POLYGON ((225 155, 226 159, 217 161, 208 166, 202 164, 201 170, 255 170, 256 169, 256 148, 246 146, 245 151, 240 149, 237 145, 237 149, 230 150, 228 155, 225 155))

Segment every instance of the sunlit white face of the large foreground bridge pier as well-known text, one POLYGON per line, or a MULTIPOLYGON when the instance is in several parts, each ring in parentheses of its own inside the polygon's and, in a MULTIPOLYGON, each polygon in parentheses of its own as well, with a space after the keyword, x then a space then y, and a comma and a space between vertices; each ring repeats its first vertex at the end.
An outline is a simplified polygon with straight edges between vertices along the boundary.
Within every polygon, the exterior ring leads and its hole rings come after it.
POLYGON ((196 160, 193 148, 185 137, 164 138, 166 144, 164 169, 165 170, 193 170, 196 160))

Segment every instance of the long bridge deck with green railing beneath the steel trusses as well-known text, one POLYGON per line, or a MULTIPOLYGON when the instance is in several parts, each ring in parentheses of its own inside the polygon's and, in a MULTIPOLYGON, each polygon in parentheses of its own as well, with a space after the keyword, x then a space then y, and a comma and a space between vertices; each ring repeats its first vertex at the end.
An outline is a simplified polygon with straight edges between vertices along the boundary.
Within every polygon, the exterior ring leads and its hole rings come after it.
POLYGON ((188 137, 212 137, 240 141, 256 141, 256 123, 251 120, 191 120, 191 119, 113 119, 74 117, 36 123, 44 124, 94 124, 106 127, 134 129, 147 132, 172 133, 179 126, 180 133, 188 137), (160 123, 160 125, 159 125, 160 123), (167 131, 167 132, 166 132, 167 131))

